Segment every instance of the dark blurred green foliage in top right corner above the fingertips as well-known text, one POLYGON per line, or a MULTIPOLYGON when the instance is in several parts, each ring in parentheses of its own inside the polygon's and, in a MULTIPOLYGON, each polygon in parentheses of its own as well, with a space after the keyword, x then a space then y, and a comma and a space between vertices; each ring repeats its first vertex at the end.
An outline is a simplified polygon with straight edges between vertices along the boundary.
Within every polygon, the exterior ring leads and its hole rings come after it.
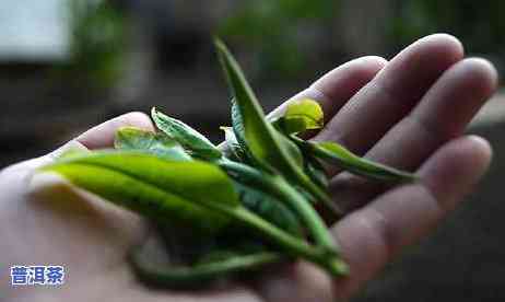
POLYGON ((406 44, 434 32, 459 37, 471 53, 505 55, 505 1, 398 1, 391 43, 406 44))

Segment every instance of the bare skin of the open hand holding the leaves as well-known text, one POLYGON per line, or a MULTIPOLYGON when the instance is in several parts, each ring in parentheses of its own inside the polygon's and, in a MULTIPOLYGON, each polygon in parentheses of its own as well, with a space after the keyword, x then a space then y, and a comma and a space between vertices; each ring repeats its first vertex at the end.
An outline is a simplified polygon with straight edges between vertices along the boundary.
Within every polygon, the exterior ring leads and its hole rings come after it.
MULTIPOLYGON (((350 213, 331 228, 351 274, 331 279, 308 263, 275 267, 257 280, 201 291, 152 290, 127 263, 131 246, 149 232, 134 213, 75 191, 33 171, 55 153, 0 173, 0 300, 12 301, 345 301, 408 245, 425 236, 488 170, 489 143, 463 130, 493 94, 497 74, 461 44, 436 34, 416 40, 390 61, 363 57, 344 63, 293 98, 321 103, 327 126, 315 140, 415 172, 415 184, 385 188, 331 170, 331 193, 350 213), (66 268, 59 288, 10 286, 11 265, 66 268)), ((281 105, 282 107, 282 105, 281 105)), ((70 142, 111 147, 118 127, 153 129, 130 113, 70 142)), ((67 147, 63 147, 68 148, 67 147)), ((61 151, 61 149, 60 149, 61 151)))

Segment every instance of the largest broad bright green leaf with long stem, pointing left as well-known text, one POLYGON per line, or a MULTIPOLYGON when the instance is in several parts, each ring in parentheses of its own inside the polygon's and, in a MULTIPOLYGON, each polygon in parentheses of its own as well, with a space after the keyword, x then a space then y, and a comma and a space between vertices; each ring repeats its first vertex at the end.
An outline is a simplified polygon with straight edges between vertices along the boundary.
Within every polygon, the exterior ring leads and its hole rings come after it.
POLYGON ((214 164, 102 151, 61 160, 38 172, 60 174, 158 224, 187 228, 196 235, 218 234, 231 222, 238 222, 291 256, 313 262, 332 275, 345 272, 337 254, 312 246, 244 208, 232 181, 214 164))

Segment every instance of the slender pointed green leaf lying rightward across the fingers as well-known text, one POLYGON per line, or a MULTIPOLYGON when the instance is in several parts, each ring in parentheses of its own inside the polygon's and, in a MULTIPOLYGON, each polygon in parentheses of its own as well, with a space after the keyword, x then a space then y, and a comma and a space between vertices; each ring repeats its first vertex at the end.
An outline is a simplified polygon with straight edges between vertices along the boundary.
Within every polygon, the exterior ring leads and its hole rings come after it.
POLYGON ((415 175, 369 161, 353 154, 344 147, 331 142, 305 142, 310 146, 315 156, 341 166, 342 169, 364 177, 387 182, 413 182, 415 175))

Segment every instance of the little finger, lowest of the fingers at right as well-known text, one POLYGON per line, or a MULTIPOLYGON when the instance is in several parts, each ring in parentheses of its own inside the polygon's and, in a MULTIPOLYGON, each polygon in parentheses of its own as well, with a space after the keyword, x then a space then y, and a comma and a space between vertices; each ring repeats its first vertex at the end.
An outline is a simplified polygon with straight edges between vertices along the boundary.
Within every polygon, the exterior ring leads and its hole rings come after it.
POLYGON ((334 233, 351 268, 348 279, 336 281, 339 294, 355 291, 431 230, 481 178, 490 160, 491 148, 482 138, 455 139, 421 166, 422 183, 392 189, 339 222, 334 233))

